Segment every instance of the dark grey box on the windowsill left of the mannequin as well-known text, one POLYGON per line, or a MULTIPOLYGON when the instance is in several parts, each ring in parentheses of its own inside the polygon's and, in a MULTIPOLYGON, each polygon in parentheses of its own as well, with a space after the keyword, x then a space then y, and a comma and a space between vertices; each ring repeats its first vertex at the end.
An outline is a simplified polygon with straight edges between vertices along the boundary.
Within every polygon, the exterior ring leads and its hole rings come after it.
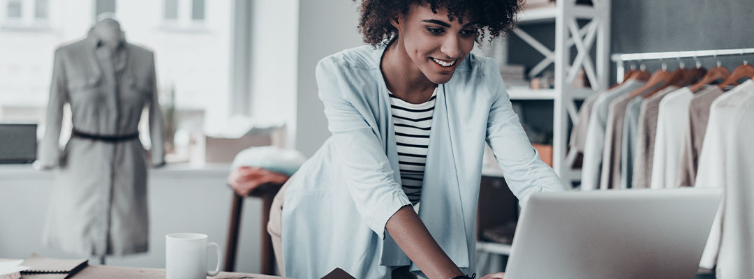
POLYGON ((37 124, 0 123, 0 164, 31 163, 37 156, 37 124))

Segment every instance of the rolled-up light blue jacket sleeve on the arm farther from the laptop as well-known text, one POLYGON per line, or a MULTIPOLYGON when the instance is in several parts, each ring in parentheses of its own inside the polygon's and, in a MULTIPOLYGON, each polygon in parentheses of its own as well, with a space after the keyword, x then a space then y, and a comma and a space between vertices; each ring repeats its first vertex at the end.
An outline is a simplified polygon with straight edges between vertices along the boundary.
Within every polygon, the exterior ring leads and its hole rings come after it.
MULTIPOLYGON (((369 126, 364 114, 351 103, 354 87, 349 81, 355 78, 348 66, 333 57, 317 64, 319 97, 325 107, 328 129, 333 133, 336 161, 342 168, 348 193, 356 204, 360 216, 385 238, 385 224, 405 205, 409 198, 394 179, 394 170, 375 130, 369 126)), ((355 81, 354 81, 355 82, 355 81)))

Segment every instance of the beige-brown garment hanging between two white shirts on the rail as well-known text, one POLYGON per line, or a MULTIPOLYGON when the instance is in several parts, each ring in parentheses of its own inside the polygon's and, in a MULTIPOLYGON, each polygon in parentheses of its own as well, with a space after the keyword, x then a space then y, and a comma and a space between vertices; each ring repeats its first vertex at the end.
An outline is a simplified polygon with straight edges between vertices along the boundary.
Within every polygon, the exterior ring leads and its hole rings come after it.
POLYGON ((702 90, 691 99, 688 106, 688 127, 681 143, 681 161, 678 167, 678 186, 694 186, 699 166, 699 155, 704 143, 710 108, 717 97, 722 95, 719 87, 702 90))

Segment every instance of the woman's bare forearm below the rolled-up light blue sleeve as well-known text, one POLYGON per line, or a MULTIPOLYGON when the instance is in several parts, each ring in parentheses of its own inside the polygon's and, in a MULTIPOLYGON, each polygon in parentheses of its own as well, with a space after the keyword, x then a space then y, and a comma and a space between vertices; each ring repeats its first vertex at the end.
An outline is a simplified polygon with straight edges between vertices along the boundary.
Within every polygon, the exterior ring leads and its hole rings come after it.
POLYGON ((401 207, 388 219, 385 228, 403 253, 430 279, 463 275, 461 269, 437 245, 411 206, 401 207))

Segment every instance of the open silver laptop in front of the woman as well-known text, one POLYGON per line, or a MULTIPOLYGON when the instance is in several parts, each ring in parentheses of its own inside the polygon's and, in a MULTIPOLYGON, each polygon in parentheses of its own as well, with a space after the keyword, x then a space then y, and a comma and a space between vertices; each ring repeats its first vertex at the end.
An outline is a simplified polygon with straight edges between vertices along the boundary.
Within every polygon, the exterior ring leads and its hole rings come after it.
POLYGON ((722 189, 532 195, 506 279, 694 278, 722 189))

